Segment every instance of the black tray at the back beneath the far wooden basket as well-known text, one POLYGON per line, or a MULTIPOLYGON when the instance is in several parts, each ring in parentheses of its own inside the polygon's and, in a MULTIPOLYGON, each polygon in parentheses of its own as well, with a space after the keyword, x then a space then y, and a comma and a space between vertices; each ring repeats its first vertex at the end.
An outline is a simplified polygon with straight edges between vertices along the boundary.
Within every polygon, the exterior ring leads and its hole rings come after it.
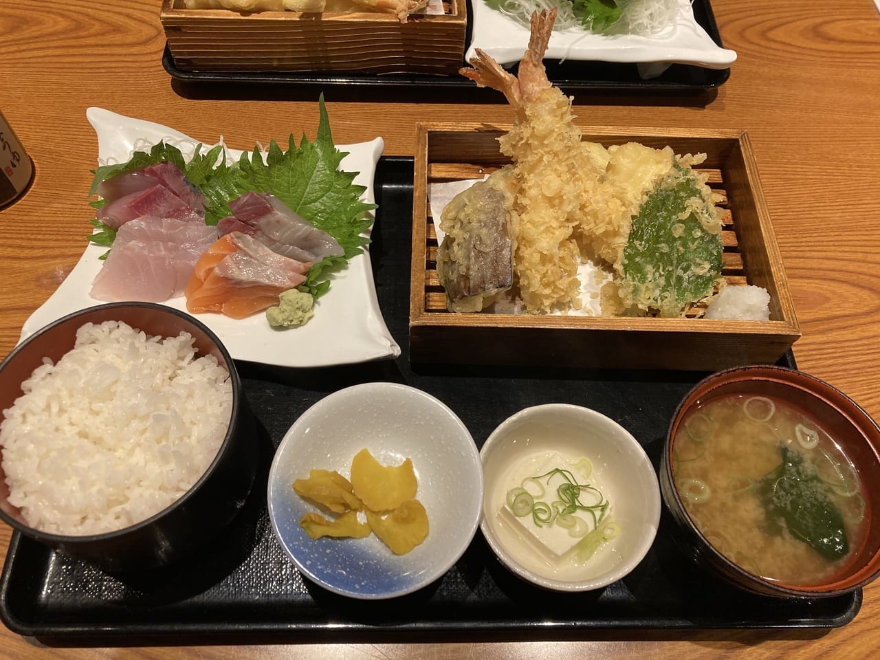
MULTIPOLYGON (((693 0, 693 16, 697 23, 706 30, 718 46, 722 46, 721 35, 715 23, 715 15, 709 0, 693 0)), ((471 41, 471 25, 468 23, 466 43, 471 41)), ((200 82, 220 84, 249 83, 267 84, 274 92, 277 85, 291 85, 304 88, 325 89, 334 87, 334 93, 346 92, 363 94, 381 90, 387 94, 397 92, 406 97, 417 94, 417 100, 469 100, 488 99, 498 101, 498 92, 488 88, 478 88, 472 81, 462 76, 428 76, 428 75, 361 75, 334 74, 326 72, 260 72, 260 71, 190 71, 182 70, 174 62, 170 48, 165 47, 162 56, 165 70, 173 78, 183 82, 200 82)), ((462 62, 464 64, 464 62, 462 62)), ((657 77, 642 79, 635 64, 617 62, 546 62, 547 76, 551 82, 568 93, 574 92, 611 92, 681 95, 714 92, 730 77, 730 69, 704 69, 686 64, 673 64, 657 77)), ((228 88, 225 93, 228 93, 228 88)))

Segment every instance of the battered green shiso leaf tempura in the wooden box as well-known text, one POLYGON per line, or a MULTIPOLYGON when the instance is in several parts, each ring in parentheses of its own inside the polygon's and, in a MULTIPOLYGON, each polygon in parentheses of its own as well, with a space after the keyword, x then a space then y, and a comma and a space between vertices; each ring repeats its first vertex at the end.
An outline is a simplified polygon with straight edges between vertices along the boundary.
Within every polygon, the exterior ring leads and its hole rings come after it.
POLYGON ((707 231, 693 212, 679 219, 693 198, 712 212, 701 187, 690 168, 676 165, 642 203, 623 251, 625 302, 675 317, 712 293, 721 275, 721 236, 707 231))

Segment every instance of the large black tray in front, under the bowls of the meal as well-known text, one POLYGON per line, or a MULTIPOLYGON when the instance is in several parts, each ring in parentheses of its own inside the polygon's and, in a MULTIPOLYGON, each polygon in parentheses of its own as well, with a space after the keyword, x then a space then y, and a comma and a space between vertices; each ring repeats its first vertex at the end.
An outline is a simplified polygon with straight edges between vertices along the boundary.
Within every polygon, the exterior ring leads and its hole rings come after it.
MULTIPOLYGON (((861 590, 838 598, 785 601, 720 582, 678 553, 675 527, 665 511, 654 546, 634 572, 590 593, 551 593, 520 581, 495 560, 480 533, 442 579, 402 598, 357 601, 304 580, 271 530, 265 482, 285 431, 327 393, 376 380, 414 385, 444 400, 480 445, 520 408, 582 404, 632 432, 656 466, 674 407, 705 375, 410 364, 413 159, 382 158, 375 190, 379 206, 370 253, 379 303, 403 355, 396 361, 327 369, 239 363, 261 422, 263 452, 261 478, 231 532, 206 544, 193 561, 124 577, 108 576, 16 532, 0 582, 0 615, 7 627, 55 644, 123 645, 576 637, 603 629, 824 628, 853 620, 862 605, 861 590)), ((781 363, 793 367, 791 354, 781 363)))

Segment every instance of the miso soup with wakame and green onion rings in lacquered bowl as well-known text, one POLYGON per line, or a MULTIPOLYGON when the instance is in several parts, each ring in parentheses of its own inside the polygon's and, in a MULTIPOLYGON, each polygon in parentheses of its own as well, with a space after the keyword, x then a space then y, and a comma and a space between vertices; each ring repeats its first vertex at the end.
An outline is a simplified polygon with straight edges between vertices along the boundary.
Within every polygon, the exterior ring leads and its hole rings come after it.
POLYGON ((703 536, 767 580, 821 583, 862 542, 863 485, 852 462, 786 401, 733 394, 701 403, 678 427, 671 470, 703 536))

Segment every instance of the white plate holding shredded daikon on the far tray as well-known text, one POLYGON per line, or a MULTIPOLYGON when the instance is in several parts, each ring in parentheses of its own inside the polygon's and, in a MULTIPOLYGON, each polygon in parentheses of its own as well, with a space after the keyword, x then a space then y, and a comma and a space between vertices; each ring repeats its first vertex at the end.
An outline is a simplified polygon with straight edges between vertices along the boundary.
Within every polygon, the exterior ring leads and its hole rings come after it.
MULTIPOLYGON (((676 24, 650 37, 594 34, 585 30, 554 31, 546 59, 681 63, 707 69, 727 69, 736 61, 736 52, 718 47, 693 18, 690 0, 678 2, 681 11, 676 24)), ((528 44, 529 29, 526 26, 492 9, 485 0, 473 0, 473 37, 466 53, 468 62, 475 55, 475 48, 484 50, 504 65, 519 62, 528 44)))

